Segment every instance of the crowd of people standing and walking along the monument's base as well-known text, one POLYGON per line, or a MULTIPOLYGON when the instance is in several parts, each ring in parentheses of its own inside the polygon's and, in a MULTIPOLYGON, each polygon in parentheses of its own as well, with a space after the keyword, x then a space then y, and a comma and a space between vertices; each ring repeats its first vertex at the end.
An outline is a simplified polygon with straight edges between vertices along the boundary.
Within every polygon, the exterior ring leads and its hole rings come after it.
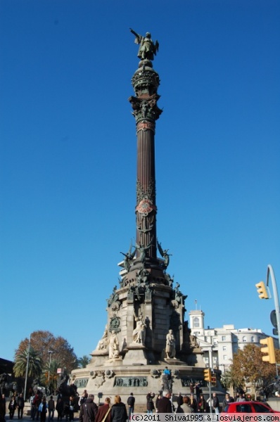
MULTIPOLYGON (((245 399, 242 394, 239 394, 235 399, 226 394, 222 404, 220 404, 215 392, 212 393, 211 397, 205 399, 200 385, 197 383, 191 388, 191 393, 184 396, 180 392, 178 395, 172 395, 170 390, 163 390, 156 397, 155 393, 148 392, 146 395, 146 412, 148 414, 153 414, 154 411, 158 413, 208 413, 212 409, 213 412, 219 413, 229 402, 245 399), (177 407, 174 406, 176 403, 177 407)), ((46 422, 47 419, 47 422, 53 422, 56 411, 58 422, 63 421, 63 418, 65 418, 65 421, 74 421, 75 412, 79 412, 79 422, 127 422, 134 413, 135 397, 133 392, 130 393, 126 404, 122 402, 120 395, 115 395, 113 404, 111 404, 110 397, 106 397, 104 404, 98 406, 94 402, 94 395, 88 394, 87 390, 84 390, 80 397, 70 396, 69 399, 64 401, 63 397, 58 395, 56 402, 53 396, 46 399, 41 392, 37 392, 30 397, 30 418, 32 421, 46 422)), ((23 394, 13 395, 8 402, 9 418, 13 419, 16 411, 18 419, 23 418, 24 407, 23 394)), ((5 422, 5 415, 6 398, 2 395, 0 422, 5 422)))

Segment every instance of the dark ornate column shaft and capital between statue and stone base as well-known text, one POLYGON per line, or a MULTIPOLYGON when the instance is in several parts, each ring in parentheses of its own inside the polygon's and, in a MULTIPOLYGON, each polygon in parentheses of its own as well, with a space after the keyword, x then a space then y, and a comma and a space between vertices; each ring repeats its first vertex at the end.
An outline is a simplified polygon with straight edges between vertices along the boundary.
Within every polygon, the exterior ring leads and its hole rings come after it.
POLYGON ((156 261, 155 204, 155 120, 162 110, 157 106, 160 80, 151 60, 141 60, 132 77, 136 96, 129 98, 136 120, 136 259, 156 261))

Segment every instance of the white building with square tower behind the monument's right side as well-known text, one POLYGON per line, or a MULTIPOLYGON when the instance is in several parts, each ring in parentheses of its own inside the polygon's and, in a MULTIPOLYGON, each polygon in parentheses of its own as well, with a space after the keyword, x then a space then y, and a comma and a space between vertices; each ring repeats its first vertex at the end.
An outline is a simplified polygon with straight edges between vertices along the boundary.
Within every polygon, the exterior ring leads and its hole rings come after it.
MULTIPOLYGON (((236 329, 233 324, 224 325, 222 328, 205 328, 204 312, 201 310, 189 312, 189 328, 204 352, 205 366, 219 369, 222 373, 229 369, 238 349, 242 350, 250 343, 260 346, 260 340, 269 337, 259 328, 236 329)), ((278 347, 276 338, 274 344, 278 347)))

